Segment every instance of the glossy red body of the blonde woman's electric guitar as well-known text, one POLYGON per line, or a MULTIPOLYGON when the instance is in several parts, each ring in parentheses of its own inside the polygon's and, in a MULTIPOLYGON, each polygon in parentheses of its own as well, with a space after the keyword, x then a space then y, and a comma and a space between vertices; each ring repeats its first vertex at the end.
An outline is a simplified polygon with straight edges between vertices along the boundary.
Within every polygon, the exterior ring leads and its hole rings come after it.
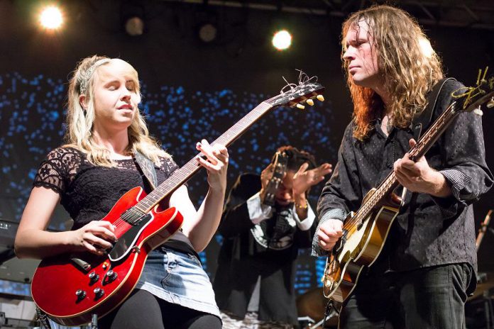
POLYGON ((108 255, 58 255, 40 263, 31 293, 50 318, 62 325, 89 323, 92 314, 104 316, 131 293, 149 252, 179 230, 183 221, 175 208, 159 211, 158 206, 141 216, 139 223, 123 221, 122 214, 144 196, 141 187, 131 189, 101 219, 116 225, 118 240, 108 255))

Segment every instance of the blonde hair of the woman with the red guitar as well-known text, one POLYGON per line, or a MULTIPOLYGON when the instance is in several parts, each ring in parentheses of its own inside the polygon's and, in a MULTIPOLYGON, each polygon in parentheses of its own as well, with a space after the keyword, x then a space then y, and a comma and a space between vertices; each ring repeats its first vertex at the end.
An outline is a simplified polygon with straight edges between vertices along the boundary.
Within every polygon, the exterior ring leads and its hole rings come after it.
MULTIPOLYGON (((116 163, 110 159, 110 152, 99 146, 93 138, 92 129, 94 123, 94 77, 98 68, 109 64, 112 60, 106 56, 94 55, 86 57, 77 64, 70 79, 67 99, 67 130, 65 141, 68 145, 87 154, 87 159, 94 165, 114 167, 116 163), (81 88, 82 84, 82 88, 81 88), (82 92, 81 92, 82 89, 82 92), (79 96, 86 96, 86 109, 82 108, 79 96)), ((128 64, 128 63, 127 63, 128 64)), ((130 64, 128 67, 133 77, 136 93, 141 99, 138 74, 130 64)), ((160 157, 170 157, 161 149, 158 142, 149 135, 146 121, 139 111, 134 116, 131 126, 128 127, 128 153, 136 151, 152 160, 155 165, 160 165, 160 157)))

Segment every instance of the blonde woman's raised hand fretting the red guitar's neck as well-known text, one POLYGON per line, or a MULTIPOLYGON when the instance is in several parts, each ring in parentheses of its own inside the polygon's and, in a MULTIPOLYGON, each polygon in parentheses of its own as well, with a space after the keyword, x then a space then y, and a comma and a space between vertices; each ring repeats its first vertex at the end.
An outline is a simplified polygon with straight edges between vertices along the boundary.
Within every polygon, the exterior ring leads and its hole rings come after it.
POLYGON ((207 182, 214 191, 226 190, 226 169, 228 168, 228 150, 221 144, 209 145, 207 140, 196 144, 206 159, 197 157, 199 165, 207 169, 207 182))

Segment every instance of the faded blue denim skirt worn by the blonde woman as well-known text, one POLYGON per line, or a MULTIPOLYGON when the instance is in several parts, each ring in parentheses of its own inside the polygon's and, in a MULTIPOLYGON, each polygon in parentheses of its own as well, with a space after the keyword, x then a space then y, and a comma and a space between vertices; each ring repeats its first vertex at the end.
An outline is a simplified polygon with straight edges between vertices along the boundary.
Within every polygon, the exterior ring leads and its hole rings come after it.
POLYGON ((148 255, 136 289, 221 318, 211 281, 195 255, 158 247, 148 255))

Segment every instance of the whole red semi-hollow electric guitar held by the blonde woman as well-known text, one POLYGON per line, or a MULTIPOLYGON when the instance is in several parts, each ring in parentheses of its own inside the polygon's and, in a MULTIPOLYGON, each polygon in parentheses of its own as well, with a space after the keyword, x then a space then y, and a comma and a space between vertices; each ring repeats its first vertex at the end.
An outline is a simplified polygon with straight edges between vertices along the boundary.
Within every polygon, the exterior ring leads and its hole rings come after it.
MULTIPOLYGON (((212 144, 230 145, 271 108, 300 107, 302 101, 312 105, 314 97, 322 101, 324 87, 316 80, 287 85, 286 91, 256 106, 212 144)), ((101 219, 116 226, 118 240, 108 255, 85 252, 43 260, 31 284, 38 308, 62 325, 82 325, 91 321, 92 314, 101 317, 119 306, 141 277, 148 253, 182 225, 182 215, 175 208, 159 211, 158 203, 199 170, 196 157, 150 194, 135 187, 116 202, 101 219)))

